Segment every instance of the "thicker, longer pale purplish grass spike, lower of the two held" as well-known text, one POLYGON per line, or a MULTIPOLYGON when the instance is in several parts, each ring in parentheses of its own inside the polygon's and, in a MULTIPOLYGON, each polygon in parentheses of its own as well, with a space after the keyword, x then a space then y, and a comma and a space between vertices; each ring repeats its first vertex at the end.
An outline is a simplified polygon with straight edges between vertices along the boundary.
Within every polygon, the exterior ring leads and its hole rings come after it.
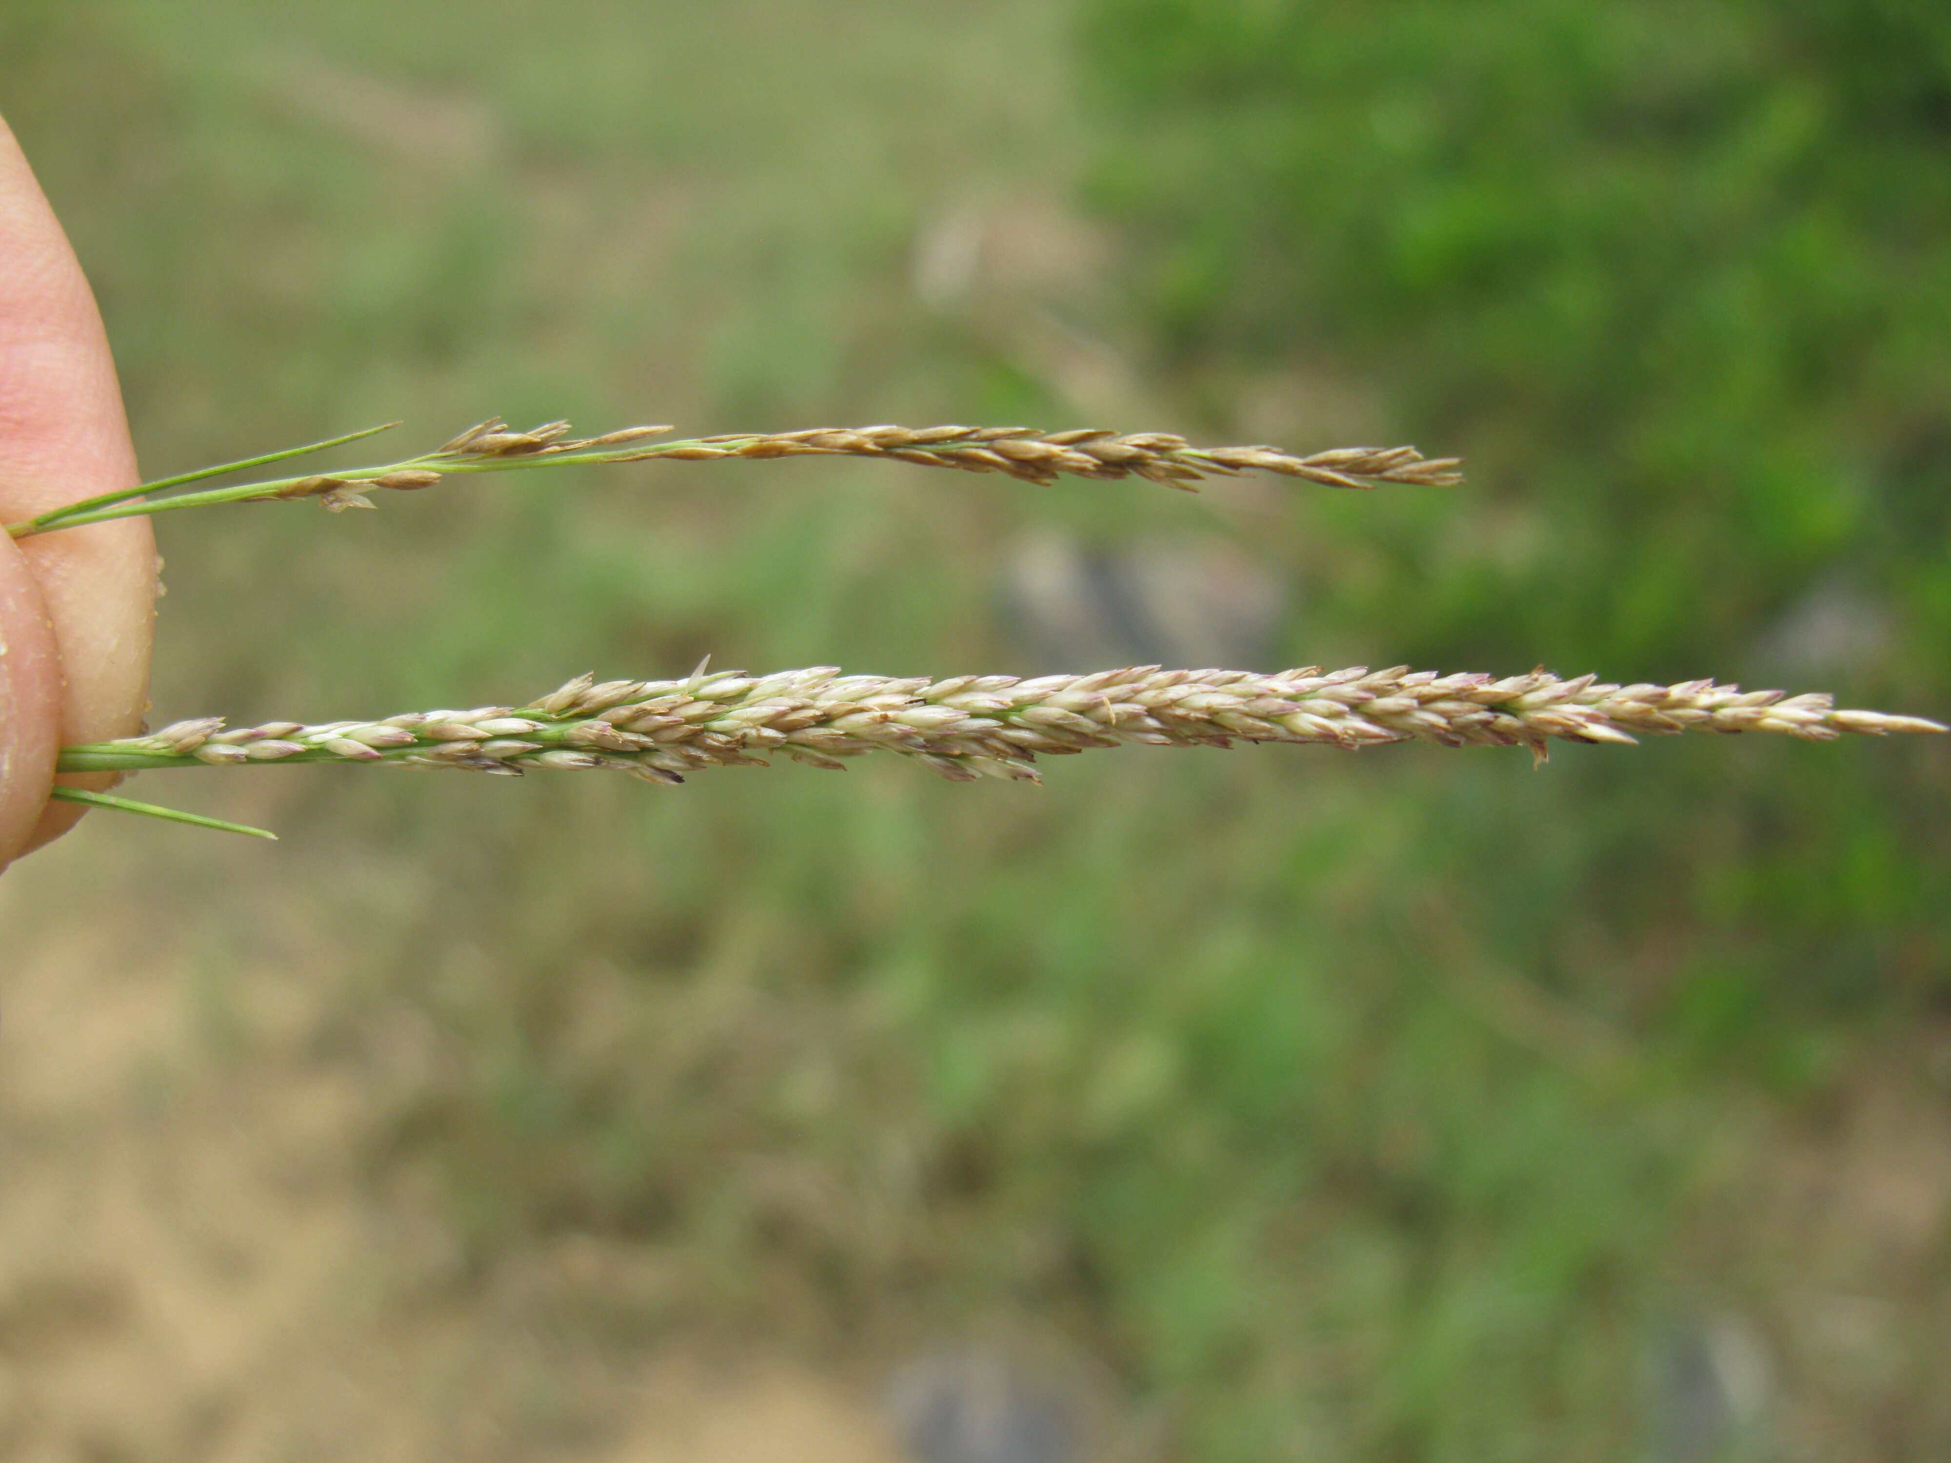
POLYGON ((531 767, 617 769, 681 782, 706 767, 761 763, 778 753, 837 769, 841 757, 892 751, 956 782, 1038 780, 1036 757, 1143 743, 1225 747, 1233 741, 1321 741, 1370 747, 1530 747, 1551 739, 1635 741, 1635 733, 1779 732, 1828 741, 1844 732, 1943 732, 1914 716, 1836 710, 1828 696, 1740 691, 1713 681, 1674 687, 1565 681, 1545 671, 1502 681, 1305 667, 1163 671, 1139 665, 1093 675, 925 677, 841 675, 819 665, 749 677, 698 673, 683 681, 605 681, 583 675, 529 706, 480 706, 224 730, 178 722, 146 737, 70 747, 62 771, 377 763, 451 767, 503 776, 531 767))

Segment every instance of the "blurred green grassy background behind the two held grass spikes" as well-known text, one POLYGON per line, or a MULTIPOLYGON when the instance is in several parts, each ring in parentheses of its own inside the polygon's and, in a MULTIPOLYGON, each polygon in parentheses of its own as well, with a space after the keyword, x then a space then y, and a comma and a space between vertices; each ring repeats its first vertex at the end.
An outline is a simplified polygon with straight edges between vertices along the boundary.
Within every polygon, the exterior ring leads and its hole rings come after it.
MULTIPOLYGON (((1052 531, 1276 585, 1266 669, 1951 708, 1930 6, 16 0, 0 86, 150 474, 492 412, 1469 460, 164 523, 164 718, 706 652, 1050 669, 1007 568, 1052 531)), ((359 1092, 334 1182, 441 1237, 375 1243, 373 1334, 574 1241, 677 1276, 552 1323, 601 1346, 999 1328, 1169 1457, 1914 1459, 1951 1445, 1947 792, 1941 745, 1867 739, 185 774, 139 796, 287 841, 96 817, 10 909, 55 962, 107 907, 179 995, 150 1120, 226 1069, 275 1106, 250 991, 302 983, 277 1071, 359 1092)))

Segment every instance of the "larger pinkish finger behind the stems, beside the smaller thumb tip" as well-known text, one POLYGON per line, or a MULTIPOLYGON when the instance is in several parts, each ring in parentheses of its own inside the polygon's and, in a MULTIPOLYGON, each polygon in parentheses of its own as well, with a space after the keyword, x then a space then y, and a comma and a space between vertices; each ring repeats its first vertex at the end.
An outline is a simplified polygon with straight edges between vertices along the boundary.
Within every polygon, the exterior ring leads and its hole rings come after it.
MULTIPOLYGON (((135 482, 135 449, 94 295, 0 121, 0 521, 16 523, 135 482)), ((68 529, 10 548, 53 626, 59 739, 133 735, 148 700, 156 605, 148 523, 68 529)), ((29 765, 20 763, 23 771, 29 765)), ((113 778, 62 780, 105 786, 113 778)), ((57 837, 78 813, 70 804, 47 806, 25 847, 57 837)))

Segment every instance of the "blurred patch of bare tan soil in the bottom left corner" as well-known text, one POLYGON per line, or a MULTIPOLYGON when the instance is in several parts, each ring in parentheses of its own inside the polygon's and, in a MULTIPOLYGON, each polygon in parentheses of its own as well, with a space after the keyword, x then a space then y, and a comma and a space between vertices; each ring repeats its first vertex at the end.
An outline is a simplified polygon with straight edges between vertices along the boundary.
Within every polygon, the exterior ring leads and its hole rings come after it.
POLYGON ((460 1276, 361 1172, 322 981, 37 919, 53 876, 0 886, 0 1459, 896 1463, 843 1379, 579 1325, 654 1258, 460 1276))

